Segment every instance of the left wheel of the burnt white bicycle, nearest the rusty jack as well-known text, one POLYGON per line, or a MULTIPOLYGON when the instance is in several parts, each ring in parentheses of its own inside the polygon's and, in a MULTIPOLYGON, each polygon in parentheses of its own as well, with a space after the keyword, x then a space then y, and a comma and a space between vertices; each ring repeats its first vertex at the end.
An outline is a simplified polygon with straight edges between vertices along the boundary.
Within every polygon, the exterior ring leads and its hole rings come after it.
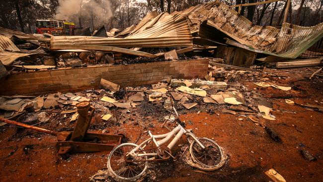
MULTIPOLYGON (((114 148, 109 157, 107 167, 110 174, 120 180, 134 181, 140 178, 147 170, 147 156, 129 158, 126 155, 137 147, 134 143, 124 143, 114 148)), ((142 150, 141 148, 139 150, 142 150)), ((137 153, 137 152, 136 152, 137 153)), ((145 154, 145 151, 137 154, 145 154)))

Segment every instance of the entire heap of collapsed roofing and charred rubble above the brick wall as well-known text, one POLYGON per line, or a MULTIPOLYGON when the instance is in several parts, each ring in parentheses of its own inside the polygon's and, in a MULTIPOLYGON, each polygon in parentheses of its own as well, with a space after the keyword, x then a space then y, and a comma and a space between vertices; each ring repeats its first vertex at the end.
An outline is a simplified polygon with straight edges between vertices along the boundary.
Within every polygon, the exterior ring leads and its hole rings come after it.
MULTIPOLYGON (((0 27, 0 61, 8 71, 182 60, 196 56, 218 56, 224 58, 226 64, 239 64, 236 66, 251 66, 256 59, 260 64, 265 62, 267 66, 277 68, 317 66, 323 61, 320 54, 314 59, 302 54, 322 38, 322 23, 313 27, 284 23, 281 29, 255 26, 219 1, 171 14, 149 12, 138 24, 117 32, 112 29, 106 34, 103 26, 93 36, 52 36, 47 33, 25 34, 0 27), (248 31, 250 29, 253 31, 248 31), (216 32, 224 37, 214 36, 216 32), (300 36, 307 38, 299 39, 300 36), (217 49, 217 46, 235 48, 217 49), (242 51, 228 57, 230 51, 227 51, 236 48, 242 51), (228 61, 232 58, 239 60, 248 52, 261 54, 252 60, 243 58, 239 63, 228 61)), ((217 81, 228 74, 216 72, 213 77, 217 81)))

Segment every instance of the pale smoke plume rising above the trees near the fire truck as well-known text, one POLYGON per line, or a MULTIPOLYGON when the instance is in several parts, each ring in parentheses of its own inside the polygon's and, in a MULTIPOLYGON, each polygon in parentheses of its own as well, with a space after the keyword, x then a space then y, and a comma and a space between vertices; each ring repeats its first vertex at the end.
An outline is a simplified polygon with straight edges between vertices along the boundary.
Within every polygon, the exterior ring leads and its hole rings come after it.
POLYGON ((92 26, 92 18, 94 27, 106 25, 112 17, 111 4, 109 0, 59 0, 54 18, 79 25, 80 15, 82 27, 92 26))

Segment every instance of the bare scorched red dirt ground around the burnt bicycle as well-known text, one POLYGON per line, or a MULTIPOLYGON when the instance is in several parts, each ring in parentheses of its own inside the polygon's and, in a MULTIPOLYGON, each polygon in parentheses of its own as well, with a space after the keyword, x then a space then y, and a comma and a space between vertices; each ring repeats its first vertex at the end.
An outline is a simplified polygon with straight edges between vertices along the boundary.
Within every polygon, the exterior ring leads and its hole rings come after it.
MULTIPOLYGON (((293 75, 295 76, 295 74, 293 75)), ((218 105, 201 104, 191 110, 180 110, 180 119, 186 128, 193 128, 198 137, 215 140, 229 154, 226 165, 215 172, 203 173, 187 166, 181 159, 181 147, 173 154, 178 160, 152 163, 157 174, 155 181, 162 182, 269 182, 265 171, 274 168, 287 182, 323 181, 323 114, 300 106, 288 105, 285 98, 299 103, 323 102, 322 80, 289 82, 297 88, 297 96, 272 88, 259 88, 252 82, 240 81, 249 90, 257 91, 273 103, 276 120, 261 119, 276 131, 282 143, 273 141, 263 127, 255 125, 243 116, 222 113, 218 105), (254 89, 255 88, 255 89, 254 89), (208 109, 208 111, 207 111, 208 109), (210 112, 210 109, 212 112, 210 112), (297 112, 289 113, 282 110, 297 112), (200 111, 200 113, 198 113, 200 111), (214 111, 214 112, 213 112, 214 111), (239 120, 242 118, 242 120, 239 120), (307 161, 301 149, 310 151, 317 160, 307 161)), ((145 103, 143 103, 145 104, 145 103)), ((148 105, 149 106, 149 105, 148 105)), ((142 107, 144 109, 146 107, 142 107)), ((140 108, 131 108, 130 113, 120 112, 126 118, 120 126, 107 125, 110 134, 123 132, 129 142, 135 142, 140 133, 149 129, 153 134, 166 133, 161 128, 160 115, 145 115, 140 108)), ((101 126, 100 117, 93 117, 91 125, 101 126)), ((54 128, 51 123, 39 127, 54 128)), ((102 132, 102 127, 90 131, 102 132)), ((103 127, 104 128, 104 127, 103 127)), ((142 134, 139 142, 147 138, 142 134)), ((0 181, 1 182, 86 182, 98 170, 106 168, 109 152, 72 154, 63 160, 55 150, 56 137, 36 131, 5 125, 0 128, 0 181)), ((185 136, 179 144, 185 144, 185 136)))

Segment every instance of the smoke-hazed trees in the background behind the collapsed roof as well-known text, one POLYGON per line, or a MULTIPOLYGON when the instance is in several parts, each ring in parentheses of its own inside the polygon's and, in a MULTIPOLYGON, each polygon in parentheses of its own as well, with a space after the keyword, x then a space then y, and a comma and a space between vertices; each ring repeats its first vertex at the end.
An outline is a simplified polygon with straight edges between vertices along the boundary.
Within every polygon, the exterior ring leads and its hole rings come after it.
MULTIPOLYGON (((36 19, 66 19, 79 27, 123 30, 136 24, 147 12, 181 11, 209 0, 1 0, 0 26, 35 32, 36 19)), ((264 0, 220 0, 228 5, 264 0)), ((240 14, 257 25, 282 24, 286 1, 242 6, 240 14)), ((323 0, 291 0, 287 22, 313 26, 323 22, 323 0)), ((238 8, 236 8, 238 11, 238 8)))

